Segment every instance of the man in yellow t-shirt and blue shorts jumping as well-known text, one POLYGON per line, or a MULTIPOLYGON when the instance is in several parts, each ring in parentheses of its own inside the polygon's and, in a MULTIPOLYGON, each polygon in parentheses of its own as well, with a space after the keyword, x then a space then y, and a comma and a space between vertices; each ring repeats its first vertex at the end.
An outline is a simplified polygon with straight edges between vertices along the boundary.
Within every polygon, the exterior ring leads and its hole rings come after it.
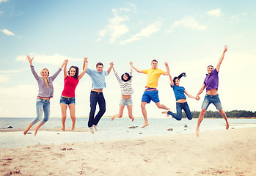
MULTIPOLYGON (((167 75, 168 73, 165 72, 164 70, 158 69, 158 62, 157 60, 153 60, 151 62, 151 66, 152 68, 149 68, 147 70, 139 70, 136 67, 134 67, 133 63, 130 63, 132 65, 132 67, 134 68, 134 70, 136 70, 138 73, 145 73, 147 74, 147 84, 145 86, 145 92, 142 95, 142 103, 141 103, 141 107, 142 107, 142 114, 145 120, 144 125, 142 125, 142 128, 145 128, 147 125, 150 125, 147 121, 147 110, 146 110, 146 104, 150 103, 151 100, 153 100, 153 102, 156 103, 156 106, 159 109, 166 109, 169 110, 169 108, 167 108, 167 106, 165 106, 164 104, 160 104, 160 100, 158 97, 158 90, 156 89, 156 87, 158 86, 158 79, 161 75, 167 75)), ((167 65, 166 65, 167 66, 167 65)))

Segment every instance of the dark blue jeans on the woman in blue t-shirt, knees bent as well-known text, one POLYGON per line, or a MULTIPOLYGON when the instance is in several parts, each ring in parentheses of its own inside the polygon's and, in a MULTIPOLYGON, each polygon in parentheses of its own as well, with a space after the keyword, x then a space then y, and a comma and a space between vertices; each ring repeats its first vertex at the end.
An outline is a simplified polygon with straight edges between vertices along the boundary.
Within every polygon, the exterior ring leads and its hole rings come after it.
POLYGON ((173 113, 172 111, 168 111, 167 114, 172 115, 172 117, 174 117, 176 120, 181 120, 182 119, 182 112, 181 112, 182 109, 185 111, 186 117, 188 117, 188 119, 191 120, 192 119, 191 111, 189 109, 189 105, 187 102, 176 103, 177 114, 173 113))

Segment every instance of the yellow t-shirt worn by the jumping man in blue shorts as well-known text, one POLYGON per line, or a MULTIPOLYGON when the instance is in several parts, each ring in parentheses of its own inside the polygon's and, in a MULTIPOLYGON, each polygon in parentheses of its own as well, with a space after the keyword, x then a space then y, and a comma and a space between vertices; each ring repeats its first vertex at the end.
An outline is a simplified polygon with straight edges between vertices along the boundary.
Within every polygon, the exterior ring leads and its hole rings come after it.
POLYGON ((147 84, 145 87, 156 88, 158 86, 158 79, 161 75, 165 73, 161 69, 152 69, 143 70, 143 73, 147 74, 147 84))

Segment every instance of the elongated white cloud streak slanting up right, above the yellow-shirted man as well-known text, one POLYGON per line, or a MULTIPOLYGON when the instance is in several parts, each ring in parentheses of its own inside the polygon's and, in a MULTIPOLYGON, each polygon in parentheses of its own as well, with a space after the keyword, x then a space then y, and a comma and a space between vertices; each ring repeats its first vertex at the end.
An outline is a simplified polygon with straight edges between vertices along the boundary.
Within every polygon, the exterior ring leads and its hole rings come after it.
POLYGON ((125 43, 132 43, 136 40, 141 40, 142 37, 150 37, 150 35, 158 32, 161 29, 161 25, 162 25, 162 23, 160 21, 151 23, 146 28, 142 29, 141 32, 139 32, 138 34, 135 34, 134 36, 132 36, 131 38, 129 38, 127 40, 121 41, 120 44, 123 45, 125 43))

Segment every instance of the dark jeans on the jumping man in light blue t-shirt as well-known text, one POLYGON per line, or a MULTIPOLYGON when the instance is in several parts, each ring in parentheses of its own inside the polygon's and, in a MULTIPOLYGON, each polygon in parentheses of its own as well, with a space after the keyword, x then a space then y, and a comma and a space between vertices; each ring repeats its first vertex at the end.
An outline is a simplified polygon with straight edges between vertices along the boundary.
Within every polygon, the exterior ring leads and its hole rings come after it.
POLYGON ((89 111, 88 127, 92 127, 92 125, 97 125, 100 121, 100 118, 106 111, 106 102, 103 96, 103 92, 91 91, 90 103, 91 111, 89 111), (99 104, 100 111, 98 111, 98 114, 94 117, 97 103, 99 104))

